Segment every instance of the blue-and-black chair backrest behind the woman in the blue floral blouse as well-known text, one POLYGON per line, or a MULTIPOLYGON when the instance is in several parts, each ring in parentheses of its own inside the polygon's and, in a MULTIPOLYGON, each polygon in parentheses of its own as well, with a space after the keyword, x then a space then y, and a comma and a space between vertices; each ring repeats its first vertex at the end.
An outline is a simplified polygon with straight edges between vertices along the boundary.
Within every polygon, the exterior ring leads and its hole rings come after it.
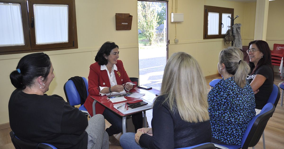
POLYGON ((252 147, 257 144, 274 110, 274 105, 272 103, 267 103, 262 108, 260 114, 252 118, 241 141, 242 149, 247 149, 248 147, 252 147))

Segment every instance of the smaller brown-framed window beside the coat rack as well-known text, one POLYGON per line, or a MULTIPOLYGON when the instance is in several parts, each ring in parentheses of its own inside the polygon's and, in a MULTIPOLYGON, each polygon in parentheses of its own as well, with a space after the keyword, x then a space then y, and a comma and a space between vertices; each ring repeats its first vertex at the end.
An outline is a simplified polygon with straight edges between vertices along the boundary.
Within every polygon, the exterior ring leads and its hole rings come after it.
POLYGON ((224 38, 228 26, 232 26, 234 9, 204 5, 203 39, 224 38))

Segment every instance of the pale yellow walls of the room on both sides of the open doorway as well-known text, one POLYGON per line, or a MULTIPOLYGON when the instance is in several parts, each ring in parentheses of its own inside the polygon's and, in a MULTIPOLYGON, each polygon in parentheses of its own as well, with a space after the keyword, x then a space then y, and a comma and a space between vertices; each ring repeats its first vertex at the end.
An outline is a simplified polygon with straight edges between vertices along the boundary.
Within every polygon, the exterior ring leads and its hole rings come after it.
MULTIPOLYGON (((283 28, 270 22, 283 24, 283 1, 273 1, 269 5, 267 38, 277 38, 283 43, 283 28), (274 9, 277 8, 277 9, 274 9), (270 10, 273 11, 270 11, 270 10), (274 12, 274 13, 272 13, 274 12), (281 13, 277 14, 277 13, 281 13), (271 15, 274 16, 271 17, 271 15), (279 31, 281 29, 281 33, 279 31), (276 34, 274 36, 274 34, 276 34)), ((172 12, 172 0, 168 3, 169 16, 172 12)), ((175 24, 169 20, 169 57, 178 51, 193 55, 202 67, 205 76, 217 74, 216 65, 220 50, 224 46, 223 39, 203 40, 204 5, 234 8, 234 15, 239 18, 234 23, 241 23, 243 45, 254 37, 254 21, 256 3, 240 3, 224 0, 178 0, 178 13, 184 13, 184 22, 177 23, 175 44, 175 24)), ((175 6, 174 6, 175 7, 175 6)), ((94 63, 98 48, 105 41, 116 42, 120 50, 120 60, 130 77, 139 77, 138 68, 138 31, 137 1, 135 0, 76 0, 76 18, 78 32, 78 49, 45 52, 51 58, 54 67, 53 79, 48 95, 57 94, 65 99, 63 85, 73 76, 88 77, 89 66, 94 63), (115 30, 115 13, 133 15, 131 30, 115 30)), ((273 39, 274 41, 275 39, 273 39)), ((270 43, 270 40, 268 41, 270 43)), ((278 41, 277 41, 278 42, 278 41)), ((276 42, 275 42, 276 43, 276 42)), ((273 45, 272 45, 273 46, 273 45)), ((271 48, 271 44, 270 44, 271 48)), ((8 101, 15 89, 9 79, 10 73, 16 69, 17 63, 25 54, 0 55, 0 124, 8 123, 8 101)))

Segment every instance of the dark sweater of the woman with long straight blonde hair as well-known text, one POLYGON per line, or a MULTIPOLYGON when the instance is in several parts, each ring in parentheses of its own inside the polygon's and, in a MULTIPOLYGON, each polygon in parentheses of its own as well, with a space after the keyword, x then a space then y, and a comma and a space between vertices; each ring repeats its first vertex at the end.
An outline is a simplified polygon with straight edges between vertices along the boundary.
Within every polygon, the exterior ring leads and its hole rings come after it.
POLYGON ((167 103, 159 96, 153 106, 153 136, 142 134, 139 144, 152 148, 184 148, 210 142, 212 137, 210 121, 190 123, 183 121, 178 111, 170 112, 167 103))

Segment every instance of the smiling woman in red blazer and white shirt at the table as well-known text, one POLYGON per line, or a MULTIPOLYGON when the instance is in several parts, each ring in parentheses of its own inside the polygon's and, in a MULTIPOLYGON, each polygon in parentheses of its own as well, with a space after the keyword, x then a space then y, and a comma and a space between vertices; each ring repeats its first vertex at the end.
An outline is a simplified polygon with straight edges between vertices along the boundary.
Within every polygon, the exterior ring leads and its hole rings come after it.
MULTIPOLYGON (((90 73, 88 77, 89 96, 87 97, 84 106, 91 116, 93 116, 93 102, 90 97, 92 95, 103 96, 111 92, 121 92, 124 89, 130 90, 133 88, 119 56, 118 46, 114 42, 105 42, 99 49, 95 63, 90 66, 90 73), (125 85, 123 85, 125 84, 125 85)), ((111 144, 120 145, 119 141, 113 136, 122 132, 122 117, 105 109, 99 103, 96 103, 96 114, 102 114, 105 119, 112 124, 106 128, 111 144)), ((142 113, 132 115, 132 122, 135 126, 135 131, 142 128, 143 119, 142 113)))

